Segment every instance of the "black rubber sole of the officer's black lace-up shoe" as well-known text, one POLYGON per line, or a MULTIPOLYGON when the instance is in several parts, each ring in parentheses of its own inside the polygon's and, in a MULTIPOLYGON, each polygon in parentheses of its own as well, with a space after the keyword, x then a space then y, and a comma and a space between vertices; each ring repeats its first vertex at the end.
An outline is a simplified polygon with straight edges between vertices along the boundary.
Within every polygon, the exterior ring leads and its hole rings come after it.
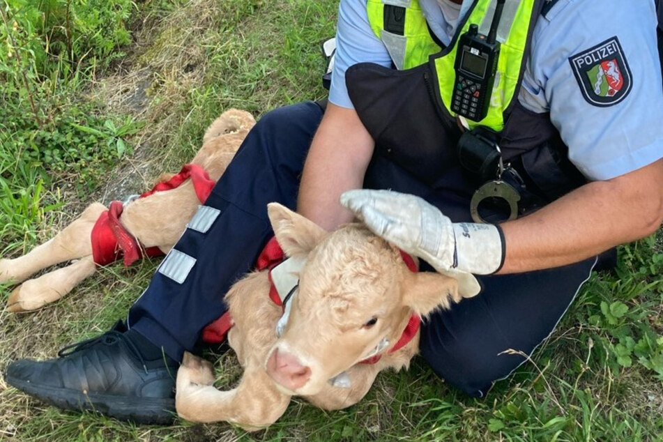
POLYGON ((138 424, 168 425, 176 417, 175 399, 152 397, 132 399, 116 395, 82 393, 68 388, 39 386, 29 381, 15 379, 13 376, 5 376, 5 380, 10 386, 59 409, 96 411, 105 416, 130 420, 138 424))

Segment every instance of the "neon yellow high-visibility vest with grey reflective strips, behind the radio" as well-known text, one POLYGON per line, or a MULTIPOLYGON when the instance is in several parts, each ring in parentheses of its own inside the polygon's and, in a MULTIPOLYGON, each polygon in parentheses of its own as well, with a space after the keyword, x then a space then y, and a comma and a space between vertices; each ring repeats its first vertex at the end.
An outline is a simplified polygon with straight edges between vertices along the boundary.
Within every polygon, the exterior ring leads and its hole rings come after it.
MULTIPOLYGON (((524 73, 526 50, 542 0, 509 0, 505 4, 498 40, 501 42, 496 79, 488 114, 482 121, 468 121, 471 128, 482 125, 496 132, 504 128, 505 113, 517 91, 524 73)), ((441 47, 429 29, 418 0, 367 0, 368 20, 374 33, 386 45, 397 69, 404 70, 432 61, 441 101, 451 116, 451 98, 456 72, 458 36, 471 24, 478 24, 480 33, 487 34, 496 6, 494 0, 477 0, 459 23, 452 43, 441 47)))

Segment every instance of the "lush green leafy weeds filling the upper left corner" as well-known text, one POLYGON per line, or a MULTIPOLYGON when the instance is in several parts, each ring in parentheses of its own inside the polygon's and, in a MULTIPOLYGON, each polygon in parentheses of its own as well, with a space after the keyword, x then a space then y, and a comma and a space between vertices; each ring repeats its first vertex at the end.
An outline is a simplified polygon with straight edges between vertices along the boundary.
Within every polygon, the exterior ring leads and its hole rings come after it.
POLYGON ((0 0, 0 240, 24 252, 84 198, 142 127, 86 91, 131 43, 128 0, 0 0), (70 196, 71 195, 71 196, 70 196))

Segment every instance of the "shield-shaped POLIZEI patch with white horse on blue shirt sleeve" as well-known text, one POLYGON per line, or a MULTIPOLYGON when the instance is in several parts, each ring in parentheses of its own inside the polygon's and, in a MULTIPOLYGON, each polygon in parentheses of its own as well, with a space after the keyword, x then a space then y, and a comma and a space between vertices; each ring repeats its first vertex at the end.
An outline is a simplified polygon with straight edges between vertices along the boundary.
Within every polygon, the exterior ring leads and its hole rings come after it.
POLYGON ((582 95, 590 105, 616 105, 630 93, 631 69, 617 37, 571 56, 569 61, 582 95))

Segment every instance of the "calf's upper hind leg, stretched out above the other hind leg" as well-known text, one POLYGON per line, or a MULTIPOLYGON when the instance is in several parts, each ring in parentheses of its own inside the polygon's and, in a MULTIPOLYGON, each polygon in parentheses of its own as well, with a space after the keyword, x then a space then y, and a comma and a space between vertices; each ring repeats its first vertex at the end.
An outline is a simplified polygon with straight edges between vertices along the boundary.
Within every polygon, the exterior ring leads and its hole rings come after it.
POLYGON ((106 208, 90 204, 81 216, 54 238, 15 259, 0 259, 0 283, 19 283, 43 268, 92 254, 90 235, 99 215, 106 208))

